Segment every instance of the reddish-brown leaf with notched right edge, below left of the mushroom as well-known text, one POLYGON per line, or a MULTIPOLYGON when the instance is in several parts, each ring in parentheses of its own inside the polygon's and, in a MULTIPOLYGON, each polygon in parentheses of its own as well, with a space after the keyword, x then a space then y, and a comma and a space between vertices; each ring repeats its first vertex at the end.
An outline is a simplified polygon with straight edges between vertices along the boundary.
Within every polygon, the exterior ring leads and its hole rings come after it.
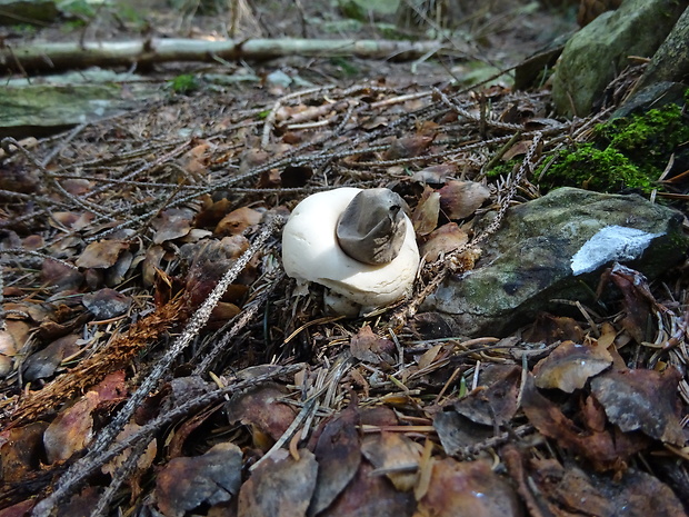
POLYGON ((287 390, 277 384, 263 384, 237 394, 226 404, 228 420, 257 426, 277 440, 296 416, 291 406, 279 401, 286 395, 287 390))

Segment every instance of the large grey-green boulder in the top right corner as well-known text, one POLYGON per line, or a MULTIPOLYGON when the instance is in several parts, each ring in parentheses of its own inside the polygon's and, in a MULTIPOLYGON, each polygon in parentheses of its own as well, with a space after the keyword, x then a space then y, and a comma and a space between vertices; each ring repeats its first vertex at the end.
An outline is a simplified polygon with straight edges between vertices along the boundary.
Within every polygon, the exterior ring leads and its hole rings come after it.
POLYGON ((628 64, 628 56, 650 58, 687 3, 675 0, 626 0, 577 32, 557 67, 552 98, 558 112, 587 116, 628 64))

